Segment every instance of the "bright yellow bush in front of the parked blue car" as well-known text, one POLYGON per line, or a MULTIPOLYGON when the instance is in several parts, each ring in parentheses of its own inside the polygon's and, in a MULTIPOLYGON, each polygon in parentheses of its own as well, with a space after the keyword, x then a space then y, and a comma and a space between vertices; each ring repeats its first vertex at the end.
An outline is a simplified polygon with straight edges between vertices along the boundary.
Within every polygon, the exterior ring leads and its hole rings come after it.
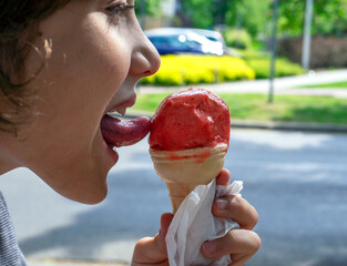
POLYGON ((228 55, 162 55, 162 65, 152 76, 142 79, 142 84, 185 85, 215 83, 234 80, 252 80, 254 71, 246 62, 228 55))

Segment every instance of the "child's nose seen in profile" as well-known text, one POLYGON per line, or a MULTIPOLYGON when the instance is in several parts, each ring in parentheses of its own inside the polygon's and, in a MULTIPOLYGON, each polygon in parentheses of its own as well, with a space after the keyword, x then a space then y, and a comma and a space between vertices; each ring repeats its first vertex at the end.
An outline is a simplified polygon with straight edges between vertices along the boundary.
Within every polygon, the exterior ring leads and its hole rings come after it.
POLYGON ((131 58, 130 72, 139 78, 154 74, 161 65, 161 58, 152 42, 140 29, 131 58))

